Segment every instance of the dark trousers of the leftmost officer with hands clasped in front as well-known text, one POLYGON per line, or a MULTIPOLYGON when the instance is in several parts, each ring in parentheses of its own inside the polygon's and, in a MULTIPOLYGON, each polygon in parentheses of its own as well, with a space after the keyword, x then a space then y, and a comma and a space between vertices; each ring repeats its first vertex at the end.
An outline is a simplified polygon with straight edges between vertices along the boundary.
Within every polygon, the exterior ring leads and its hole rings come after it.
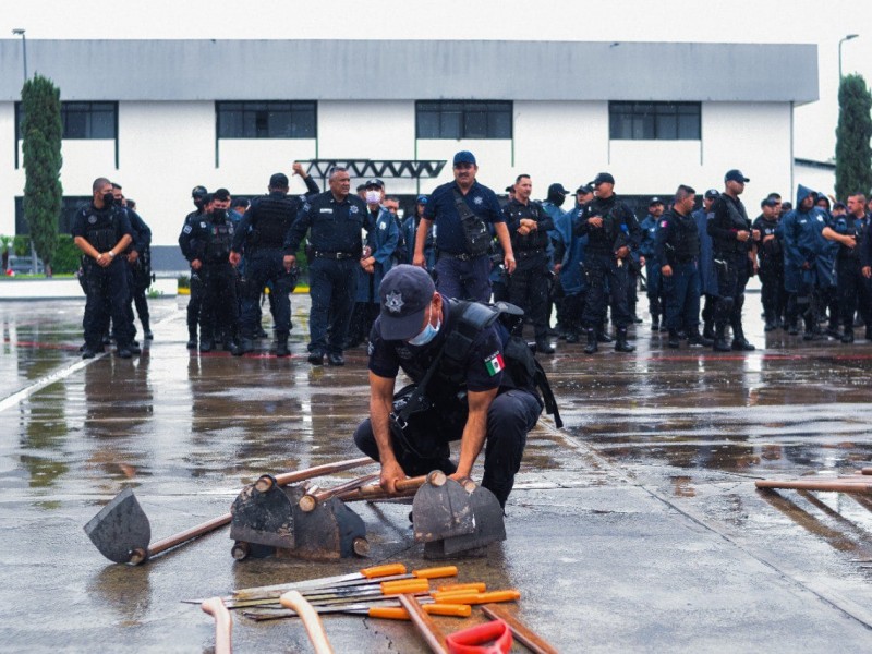
POLYGON ((109 318, 112 336, 119 348, 130 344, 126 306, 129 302, 128 263, 120 257, 106 268, 96 263, 85 268, 87 300, 85 301, 85 344, 95 351, 102 349, 102 335, 109 318))

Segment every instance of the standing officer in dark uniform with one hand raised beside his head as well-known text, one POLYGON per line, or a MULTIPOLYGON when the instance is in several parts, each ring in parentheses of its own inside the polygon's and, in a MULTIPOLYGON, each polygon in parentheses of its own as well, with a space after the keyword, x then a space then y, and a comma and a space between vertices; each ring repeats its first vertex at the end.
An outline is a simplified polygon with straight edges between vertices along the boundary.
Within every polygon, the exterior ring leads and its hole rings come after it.
MULTIPOLYGON (((293 173, 303 178, 311 194, 318 185, 306 174, 300 162, 294 162, 293 173)), ((239 265, 245 253, 245 280, 242 286, 242 314, 240 316, 239 347, 235 356, 254 351, 254 339, 261 329, 257 310, 261 292, 270 284, 272 319, 276 327, 276 356, 288 356, 288 335, 291 331, 290 294, 296 286, 296 267, 286 267, 283 244, 288 230, 298 218, 303 199, 288 195, 288 175, 277 172, 269 178, 269 194, 255 197, 233 234, 230 263, 239 265)), ((299 245, 299 243, 298 243, 299 245)), ((294 250, 294 253, 296 251, 294 250)))

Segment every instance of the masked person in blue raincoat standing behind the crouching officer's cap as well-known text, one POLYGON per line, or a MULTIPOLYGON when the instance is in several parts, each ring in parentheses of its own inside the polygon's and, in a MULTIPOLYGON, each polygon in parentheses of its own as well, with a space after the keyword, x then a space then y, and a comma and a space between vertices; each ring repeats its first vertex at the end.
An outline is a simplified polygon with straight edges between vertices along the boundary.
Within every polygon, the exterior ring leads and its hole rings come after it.
POLYGON ((393 214, 383 206, 385 183, 379 179, 366 182, 366 210, 370 226, 361 265, 358 268, 358 294, 349 326, 347 348, 354 348, 370 336, 378 315, 378 287, 390 270, 400 240, 393 214))

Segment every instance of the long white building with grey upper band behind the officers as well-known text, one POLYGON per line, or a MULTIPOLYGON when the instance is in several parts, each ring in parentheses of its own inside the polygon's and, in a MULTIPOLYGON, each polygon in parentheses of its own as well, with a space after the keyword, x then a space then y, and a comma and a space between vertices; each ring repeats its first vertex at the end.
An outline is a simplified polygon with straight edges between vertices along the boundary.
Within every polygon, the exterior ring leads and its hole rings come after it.
MULTIPOLYGON (((10 74, 22 44, 0 40, 0 233, 12 234, 26 231, 10 74)), ((608 170, 640 206, 741 168, 755 207, 790 195, 794 107, 818 99, 813 45, 31 39, 27 68, 61 89, 65 207, 96 177, 120 182, 169 269, 182 267, 194 185, 256 195, 294 160, 379 161, 388 193, 408 201, 471 149, 496 190, 524 172, 541 197, 608 170)))

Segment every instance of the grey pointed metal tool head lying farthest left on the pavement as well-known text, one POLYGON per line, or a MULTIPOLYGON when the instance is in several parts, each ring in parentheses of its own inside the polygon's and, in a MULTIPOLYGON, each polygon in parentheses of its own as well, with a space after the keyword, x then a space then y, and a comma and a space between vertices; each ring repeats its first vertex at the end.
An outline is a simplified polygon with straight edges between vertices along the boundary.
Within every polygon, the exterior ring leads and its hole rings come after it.
POLYGON ((152 525, 133 491, 125 488, 85 525, 85 533, 106 558, 117 564, 148 556, 152 525))

